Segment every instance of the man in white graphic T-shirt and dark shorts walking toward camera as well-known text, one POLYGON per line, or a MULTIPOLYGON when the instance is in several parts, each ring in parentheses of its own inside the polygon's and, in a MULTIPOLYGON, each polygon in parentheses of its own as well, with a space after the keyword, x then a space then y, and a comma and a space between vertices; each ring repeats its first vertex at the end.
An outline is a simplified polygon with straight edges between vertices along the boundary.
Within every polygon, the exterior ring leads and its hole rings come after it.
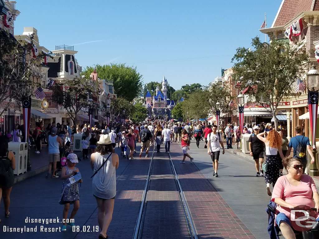
POLYGON ((214 174, 213 176, 218 177, 218 160, 220 154, 220 146, 223 148, 223 154, 225 154, 224 143, 222 141, 221 135, 217 132, 217 125, 211 127, 213 132, 207 135, 207 153, 211 156, 211 161, 213 161, 214 174))

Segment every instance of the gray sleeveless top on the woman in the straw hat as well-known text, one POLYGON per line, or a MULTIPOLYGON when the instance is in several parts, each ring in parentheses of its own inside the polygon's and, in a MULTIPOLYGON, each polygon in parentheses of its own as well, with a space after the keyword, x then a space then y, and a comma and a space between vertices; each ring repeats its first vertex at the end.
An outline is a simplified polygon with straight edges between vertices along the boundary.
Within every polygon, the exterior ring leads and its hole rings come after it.
MULTIPOLYGON (((93 166, 93 172, 98 170, 102 163, 107 159, 109 154, 100 155, 95 153, 95 162, 93 166)), ((95 197, 101 199, 112 199, 116 194, 116 175, 115 167, 112 163, 112 156, 108 158, 108 161, 104 166, 94 175, 92 180, 92 190, 95 197)))

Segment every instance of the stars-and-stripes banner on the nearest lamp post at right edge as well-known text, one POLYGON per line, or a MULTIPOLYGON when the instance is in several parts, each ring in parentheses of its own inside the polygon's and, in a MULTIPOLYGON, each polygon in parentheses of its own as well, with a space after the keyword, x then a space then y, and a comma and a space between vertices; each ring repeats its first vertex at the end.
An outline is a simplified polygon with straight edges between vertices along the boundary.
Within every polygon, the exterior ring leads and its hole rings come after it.
POLYGON ((312 148, 316 148, 316 125, 317 125, 317 113, 318 113, 318 98, 319 92, 308 91, 308 105, 309 105, 309 120, 310 129, 312 133, 312 148))

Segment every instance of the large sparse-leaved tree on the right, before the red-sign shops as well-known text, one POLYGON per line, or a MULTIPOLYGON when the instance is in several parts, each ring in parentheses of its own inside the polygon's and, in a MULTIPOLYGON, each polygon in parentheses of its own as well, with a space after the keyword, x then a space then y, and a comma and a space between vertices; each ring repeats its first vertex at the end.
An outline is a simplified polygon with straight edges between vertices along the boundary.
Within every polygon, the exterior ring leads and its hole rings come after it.
POLYGON ((309 58, 298 47, 290 47, 281 40, 273 39, 269 45, 255 37, 252 46, 254 51, 237 49, 232 59, 233 77, 249 88, 248 94, 255 102, 269 105, 277 129, 278 103, 292 91, 293 83, 305 76, 303 69, 308 68, 309 58))

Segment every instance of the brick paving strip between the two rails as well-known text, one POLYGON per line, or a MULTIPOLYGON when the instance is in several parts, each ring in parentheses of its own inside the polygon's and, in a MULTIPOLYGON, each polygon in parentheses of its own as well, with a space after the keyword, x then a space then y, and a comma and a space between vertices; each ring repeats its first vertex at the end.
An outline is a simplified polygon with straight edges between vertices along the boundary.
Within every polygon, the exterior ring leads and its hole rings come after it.
POLYGON ((169 158, 156 153, 143 225, 142 238, 190 238, 169 158))

